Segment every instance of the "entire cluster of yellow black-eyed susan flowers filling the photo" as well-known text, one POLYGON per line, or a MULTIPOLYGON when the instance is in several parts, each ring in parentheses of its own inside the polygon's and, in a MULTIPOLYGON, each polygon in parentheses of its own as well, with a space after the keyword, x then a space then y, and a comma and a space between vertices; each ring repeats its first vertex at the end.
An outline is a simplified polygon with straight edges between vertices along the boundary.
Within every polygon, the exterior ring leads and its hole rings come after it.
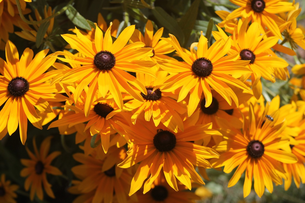
MULTIPOLYGON (((0 6, 3 2, 10 1, 0 6)), ((292 177, 299 187, 305 183, 305 102, 298 99, 300 94, 305 100, 304 82, 291 80, 295 95, 281 107, 279 96, 265 101, 261 83, 261 78, 273 83, 289 78, 289 64, 275 52, 295 55, 296 45, 305 49, 296 26, 299 4, 231 2, 240 7, 217 12, 223 21, 212 32, 215 42, 201 32, 188 49, 172 34, 162 37, 163 28, 154 33, 150 20, 144 35, 135 25, 119 34, 119 22, 107 26, 101 15, 92 30, 75 28, 75 34, 62 35, 74 53, 46 56, 45 49, 34 57, 26 48, 19 58, 6 39, 6 61, 0 59, 0 139, 19 126, 24 144, 28 120, 42 129, 58 116, 48 129, 76 133, 75 143, 84 151, 73 155, 81 163, 72 168, 77 180, 69 192, 80 194, 74 202, 193 202, 199 196, 184 190, 198 187, 194 182, 204 184, 205 169, 222 166, 225 173, 237 167, 228 187, 246 171, 244 197, 253 178, 259 197, 283 179, 285 190, 292 177), (292 49, 283 46, 285 41, 292 49)), ((45 17, 52 13, 45 9, 45 17)), ((26 30, 16 34, 36 37, 26 30)), ((304 75, 304 69, 296 65, 292 72, 304 75)), ((33 140, 35 154, 27 148, 31 159, 21 160, 27 168, 20 175, 28 176, 24 187, 31 188, 32 200, 35 194, 43 199, 41 184, 55 198, 46 173, 62 173, 50 165, 60 154, 48 155, 50 140, 39 152, 33 140)))

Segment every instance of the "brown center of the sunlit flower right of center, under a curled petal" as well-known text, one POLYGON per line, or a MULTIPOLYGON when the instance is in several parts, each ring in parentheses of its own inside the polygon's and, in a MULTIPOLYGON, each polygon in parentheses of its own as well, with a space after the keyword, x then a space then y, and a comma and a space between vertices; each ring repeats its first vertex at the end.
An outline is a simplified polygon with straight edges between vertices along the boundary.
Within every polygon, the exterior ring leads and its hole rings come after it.
POLYGON ((209 59, 199 58, 193 62, 192 71, 199 77, 207 77, 213 71, 213 64, 209 59))

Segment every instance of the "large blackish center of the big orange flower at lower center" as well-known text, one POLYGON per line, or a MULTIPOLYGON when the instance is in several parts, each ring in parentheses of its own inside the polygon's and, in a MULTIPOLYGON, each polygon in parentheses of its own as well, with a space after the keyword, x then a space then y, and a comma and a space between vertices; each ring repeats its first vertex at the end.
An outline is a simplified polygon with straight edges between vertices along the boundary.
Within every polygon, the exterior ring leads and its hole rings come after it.
POLYGON ((176 146, 176 136, 168 130, 158 129, 153 138, 153 144, 161 152, 170 151, 176 146))

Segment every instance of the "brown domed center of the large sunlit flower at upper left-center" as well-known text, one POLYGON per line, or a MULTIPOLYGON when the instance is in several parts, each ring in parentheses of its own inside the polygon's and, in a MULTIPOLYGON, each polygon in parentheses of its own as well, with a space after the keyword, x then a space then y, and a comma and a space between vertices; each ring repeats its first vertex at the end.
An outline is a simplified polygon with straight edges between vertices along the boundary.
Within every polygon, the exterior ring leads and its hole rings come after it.
POLYGON ((93 63, 100 70, 110 70, 115 65, 116 59, 109 51, 100 51, 95 54, 93 63))

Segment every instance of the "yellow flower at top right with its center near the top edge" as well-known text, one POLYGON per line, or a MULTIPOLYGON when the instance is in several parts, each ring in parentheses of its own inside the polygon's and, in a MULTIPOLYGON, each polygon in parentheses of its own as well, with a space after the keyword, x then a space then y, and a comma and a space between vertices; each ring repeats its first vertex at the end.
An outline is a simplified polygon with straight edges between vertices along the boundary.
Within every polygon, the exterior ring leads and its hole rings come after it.
POLYGON ((283 38, 278 26, 285 21, 275 14, 295 9, 292 2, 282 0, 230 0, 230 2, 240 7, 232 11, 227 16, 227 20, 238 17, 248 18, 248 22, 258 23, 262 33, 270 30, 280 39, 283 38))

